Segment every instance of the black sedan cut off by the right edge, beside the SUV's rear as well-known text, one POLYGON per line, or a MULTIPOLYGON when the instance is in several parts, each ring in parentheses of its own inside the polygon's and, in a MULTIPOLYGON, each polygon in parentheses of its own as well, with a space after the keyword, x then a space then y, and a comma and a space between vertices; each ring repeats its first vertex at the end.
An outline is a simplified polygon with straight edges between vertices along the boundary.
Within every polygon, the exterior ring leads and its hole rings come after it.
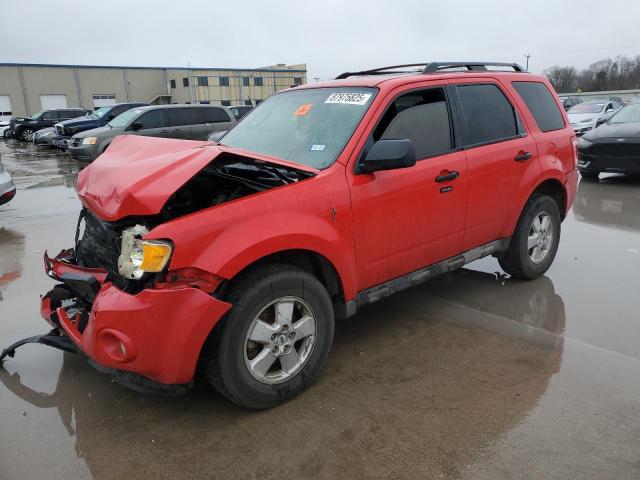
POLYGON ((640 174, 640 103, 620 109, 580 138, 578 169, 592 179, 601 172, 640 174))

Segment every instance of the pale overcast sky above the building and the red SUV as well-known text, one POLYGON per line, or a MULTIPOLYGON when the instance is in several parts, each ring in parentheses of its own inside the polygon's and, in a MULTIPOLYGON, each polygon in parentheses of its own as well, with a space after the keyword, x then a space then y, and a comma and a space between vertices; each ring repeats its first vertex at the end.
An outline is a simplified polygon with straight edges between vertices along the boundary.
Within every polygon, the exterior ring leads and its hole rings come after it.
POLYGON ((0 62, 198 67, 307 63, 309 79, 428 60, 541 72, 640 55, 640 1, 4 0, 0 62))

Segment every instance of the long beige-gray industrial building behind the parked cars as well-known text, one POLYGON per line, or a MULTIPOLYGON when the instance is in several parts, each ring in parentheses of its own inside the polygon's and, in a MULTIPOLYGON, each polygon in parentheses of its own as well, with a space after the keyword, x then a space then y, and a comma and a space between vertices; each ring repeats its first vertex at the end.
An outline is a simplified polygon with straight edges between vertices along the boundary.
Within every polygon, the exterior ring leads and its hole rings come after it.
POLYGON ((306 64, 237 69, 0 63, 0 120, 127 101, 257 105, 306 82, 306 64))

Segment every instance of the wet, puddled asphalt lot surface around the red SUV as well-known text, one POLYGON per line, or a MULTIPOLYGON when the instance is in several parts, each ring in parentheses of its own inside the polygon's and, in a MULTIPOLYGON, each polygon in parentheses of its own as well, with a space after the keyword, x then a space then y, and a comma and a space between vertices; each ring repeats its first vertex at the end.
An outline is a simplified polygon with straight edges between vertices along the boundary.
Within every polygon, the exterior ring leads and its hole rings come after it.
MULTIPOLYGON (((45 249, 73 243, 83 164, 0 141, 0 346, 44 333, 45 249)), ((252 412, 27 345, 0 369, 0 479, 640 478, 640 179, 580 183, 555 263, 495 259, 339 322, 320 380, 252 412)))

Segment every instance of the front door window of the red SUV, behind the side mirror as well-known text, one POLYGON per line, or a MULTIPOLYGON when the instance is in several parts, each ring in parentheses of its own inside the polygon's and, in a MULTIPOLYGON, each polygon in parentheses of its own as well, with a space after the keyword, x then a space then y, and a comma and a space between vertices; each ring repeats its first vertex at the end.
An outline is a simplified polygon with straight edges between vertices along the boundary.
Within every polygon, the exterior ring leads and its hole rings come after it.
POLYGON ((409 139, 418 158, 453 148, 447 99, 442 88, 407 93, 387 108, 373 132, 374 141, 409 139))

